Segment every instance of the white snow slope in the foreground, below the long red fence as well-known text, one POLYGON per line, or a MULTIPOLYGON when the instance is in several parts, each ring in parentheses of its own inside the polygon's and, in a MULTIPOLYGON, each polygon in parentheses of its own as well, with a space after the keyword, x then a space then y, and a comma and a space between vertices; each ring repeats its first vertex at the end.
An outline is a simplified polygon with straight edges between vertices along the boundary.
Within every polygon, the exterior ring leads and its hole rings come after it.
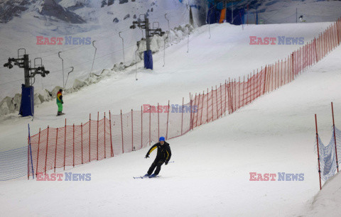
MULTIPOLYGON (((151 160, 144 159, 146 150, 139 150, 66 171, 91 173, 90 182, 36 182, 25 178, 1 182, 1 213, 6 216, 307 214, 305 202, 319 189, 317 157, 313 151, 314 113, 318 113, 323 140, 330 138, 330 101, 335 103, 335 121, 341 123, 340 55, 341 48, 337 48, 291 84, 230 116, 170 140, 175 162, 163 166, 158 179, 132 179, 145 174, 151 164, 151 160), (250 182, 249 172, 304 173, 304 181, 250 182)), ((155 153, 151 157, 154 156, 155 153)))

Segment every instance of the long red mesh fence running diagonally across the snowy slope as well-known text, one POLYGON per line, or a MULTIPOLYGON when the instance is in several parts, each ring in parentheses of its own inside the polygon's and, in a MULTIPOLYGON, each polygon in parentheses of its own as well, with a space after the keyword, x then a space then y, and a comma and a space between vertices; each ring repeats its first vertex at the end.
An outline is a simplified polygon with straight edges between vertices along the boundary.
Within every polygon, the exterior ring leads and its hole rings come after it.
POLYGON ((46 128, 31 137, 28 177, 50 169, 74 167, 92 160, 114 157, 139 150, 158 141, 188 133, 193 128, 233 113, 254 99, 292 82, 308 67, 340 45, 341 21, 333 23, 318 38, 246 77, 229 79, 224 84, 191 96, 182 105, 141 107, 119 115, 105 116, 80 126, 46 128), (32 162, 32 164, 31 164, 32 162), (33 168, 33 171, 32 171, 33 168))

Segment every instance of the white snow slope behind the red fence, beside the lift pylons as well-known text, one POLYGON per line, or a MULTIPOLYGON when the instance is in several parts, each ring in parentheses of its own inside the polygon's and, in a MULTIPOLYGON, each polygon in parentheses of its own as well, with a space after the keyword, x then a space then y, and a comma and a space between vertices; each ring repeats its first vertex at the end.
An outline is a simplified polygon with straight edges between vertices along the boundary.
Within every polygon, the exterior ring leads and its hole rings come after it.
MULTIPOLYGON (((141 69, 139 64, 135 79, 135 67, 126 72, 112 75, 97 84, 64 97, 64 112, 67 116, 56 117, 55 100, 45 102, 35 108, 35 118, 18 118, 15 113, 0 119, 1 150, 19 148, 26 145, 27 124, 31 133, 39 128, 80 124, 93 117, 97 111, 120 109, 128 112, 139 110, 143 104, 181 104, 182 98, 189 101, 189 93, 207 91, 207 88, 224 83, 225 79, 238 78, 253 72, 254 69, 286 58, 301 45, 249 45, 249 36, 257 37, 304 37, 305 43, 325 30, 330 23, 276 24, 264 26, 232 26, 228 23, 211 25, 211 38, 208 26, 202 26, 178 44, 166 49, 166 65, 163 67, 163 52, 154 55, 154 70, 141 69)), ((114 74, 115 72, 113 72, 114 74)))

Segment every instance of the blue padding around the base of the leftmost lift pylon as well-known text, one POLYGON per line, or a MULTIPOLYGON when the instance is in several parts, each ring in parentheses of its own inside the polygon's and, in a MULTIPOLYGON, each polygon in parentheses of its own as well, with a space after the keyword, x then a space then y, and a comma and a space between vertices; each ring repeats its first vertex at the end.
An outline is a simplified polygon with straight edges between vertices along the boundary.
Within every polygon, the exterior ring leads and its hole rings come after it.
POLYGON ((21 84, 21 104, 19 114, 23 117, 34 114, 34 87, 25 87, 21 84))

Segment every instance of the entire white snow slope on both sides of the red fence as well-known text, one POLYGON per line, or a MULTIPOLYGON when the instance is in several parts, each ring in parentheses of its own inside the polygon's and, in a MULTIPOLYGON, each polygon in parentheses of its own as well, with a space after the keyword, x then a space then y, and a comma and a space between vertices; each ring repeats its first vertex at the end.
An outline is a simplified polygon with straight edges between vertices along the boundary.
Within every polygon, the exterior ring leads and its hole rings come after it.
MULTIPOLYGON (((144 103, 166 104, 168 99, 180 103, 189 91, 202 91, 227 77, 247 74, 260 65, 286 57, 295 49, 289 45, 252 47, 248 45, 249 35, 290 34, 311 39, 328 24, 249 26, 241 38, 237 38, 242 31, 240 26, 215 26, 211 29, 211 39, 206 31, 198 30, 190 38, 188 54, 185 41, 173 45, 166 50, 166 66, 162 67, 162 54, 156 55, 155 70, 139 69, 138 81, 131 69, 128 74, 109 77, 65 96, 65 117, 77 123, 86 121, 90 112, 111 109, 112 113, 119 113, 119 109, 139 109, 144 103), (210 43, 212 48, 208 46, 210 43)), ((91 173, 90 182, 36 182, 25 177, 1 182, 1 213, 4 216, 305 214, 309 200, 319 190, 314 114, 318 114, 322 140, 330 139, 330 101, 335 104, 336 124, 341 124, 340 55, 341 49, 337 48, 291 84, 230 116, 169 140, 171 161, 175 162, 163 166, 158 179, 132 178, 145 174, 155 156, 153 153, 146 160, 147 150, 139 150, 67 170, 91 173), (304 173, 304 181, 250 182, 249 172, 304 173)), ((54 101, 36 110, 33 123, 9 116, 0 126, 0 139, 6 141, 6 147, 1 148, 26 145, 26 123, 33 124, 34 132, 47 125, 63 126, 63 121, 55 117, 54 101)))

